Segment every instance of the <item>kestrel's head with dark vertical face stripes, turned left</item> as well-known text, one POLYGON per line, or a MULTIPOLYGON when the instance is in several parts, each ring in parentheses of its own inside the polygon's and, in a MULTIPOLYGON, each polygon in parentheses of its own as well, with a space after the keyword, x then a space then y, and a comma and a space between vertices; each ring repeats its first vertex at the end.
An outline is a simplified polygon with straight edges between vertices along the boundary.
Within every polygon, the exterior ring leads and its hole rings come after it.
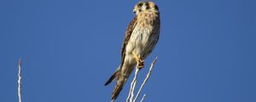
POLYGON ((159 13, 158 7, 153 2, 139 2, 135 5, 133 9, 134 14, 139 14, 142 12, 154 12, 159 13))

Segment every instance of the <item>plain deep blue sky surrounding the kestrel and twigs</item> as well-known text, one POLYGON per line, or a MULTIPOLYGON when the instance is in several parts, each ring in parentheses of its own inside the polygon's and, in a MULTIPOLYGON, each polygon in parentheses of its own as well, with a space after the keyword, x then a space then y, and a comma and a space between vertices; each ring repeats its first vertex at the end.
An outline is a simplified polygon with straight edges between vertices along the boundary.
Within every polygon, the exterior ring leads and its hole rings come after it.
MULTIPOLYGON (((158 56, 146 102, 256 101, 255 0, 154 1, 160 41, 138 77, 158 56)), ((0 101, 18 101, 19 58, 24 102, 110 101, 115 83, 103 84, 119 65, 137 2, 1 0, 0 101)))

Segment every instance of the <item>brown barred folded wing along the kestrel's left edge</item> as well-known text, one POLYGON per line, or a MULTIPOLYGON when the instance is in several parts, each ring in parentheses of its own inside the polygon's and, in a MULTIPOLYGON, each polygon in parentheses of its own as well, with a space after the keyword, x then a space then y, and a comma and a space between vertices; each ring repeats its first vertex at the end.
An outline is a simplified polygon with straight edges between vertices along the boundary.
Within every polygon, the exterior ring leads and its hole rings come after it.
POLYGON ((129 26, 126 28, 125 39, 124 39, 123 46, 122 46, 122 49, 121 49, 121 65, 120 65, 120 69, 122 69, 122 67, 123 67, 123 64, 124 64, 124 61, 125 61, 126 45, 129 42, 129 40, 130 40, 132 31, 134 30, 135 26, 137 25, 136 21, 137 21, 137 16, 135 16, 131 20, 129 26))

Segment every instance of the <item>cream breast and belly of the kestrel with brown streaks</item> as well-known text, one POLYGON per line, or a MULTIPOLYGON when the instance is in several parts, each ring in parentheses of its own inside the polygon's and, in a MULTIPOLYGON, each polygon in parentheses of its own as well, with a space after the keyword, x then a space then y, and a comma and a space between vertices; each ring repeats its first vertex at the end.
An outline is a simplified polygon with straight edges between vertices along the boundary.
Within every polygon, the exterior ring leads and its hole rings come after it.
POLYGON ((142 20, 137 22, 131 34, 126 50, 127 53, 134 52, 141 55, 143 59, 148 56, 148 53, 154 48, 158 40, 159 32, 154 29, 157 28, 152 20, 142 20))

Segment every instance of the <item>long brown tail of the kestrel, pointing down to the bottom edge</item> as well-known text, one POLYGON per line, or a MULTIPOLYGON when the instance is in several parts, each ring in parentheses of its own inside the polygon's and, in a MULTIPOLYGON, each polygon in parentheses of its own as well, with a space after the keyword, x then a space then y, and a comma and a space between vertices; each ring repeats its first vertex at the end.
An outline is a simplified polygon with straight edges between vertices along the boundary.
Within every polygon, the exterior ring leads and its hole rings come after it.
POLYGON ((128 77, 119 77, 118 81, 116 82, 116 85, 113 89, 113 93, 111 96, 111 100, 113 101, 114 99, 116 99, 119 96, 120 91, 122 90, 122 88, 125 85, 125 82, 127 81, 128 77))

